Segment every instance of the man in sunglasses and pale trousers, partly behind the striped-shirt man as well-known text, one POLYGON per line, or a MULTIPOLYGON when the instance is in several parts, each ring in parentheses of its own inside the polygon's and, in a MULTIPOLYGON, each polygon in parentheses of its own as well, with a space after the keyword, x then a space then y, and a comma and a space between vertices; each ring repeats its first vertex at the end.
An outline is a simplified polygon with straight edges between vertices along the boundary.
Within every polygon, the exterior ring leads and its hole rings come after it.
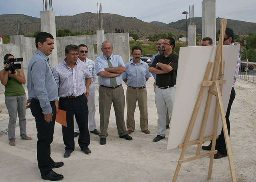
MULTIPOLYGON (((91 84, 89 86, 89 96, 88 96, 88 125, 89 125, 89 131, 90 133, 94 133, 95 135, 99 135, 100 132, 96 129, 96 119, 95 119, 95 87, 94 87, 94 81, 96 80, 96 69, 94 61, 87 58, 88 55, 88 47, 85 44, 78 45, 78 61, 82 61, 88 65, 89 71, 92 73, 92 80, 91 84)), ((76 123, 76 117, 74 117, 74 137, 77 137, 79 135, 79 128, 76 123)))

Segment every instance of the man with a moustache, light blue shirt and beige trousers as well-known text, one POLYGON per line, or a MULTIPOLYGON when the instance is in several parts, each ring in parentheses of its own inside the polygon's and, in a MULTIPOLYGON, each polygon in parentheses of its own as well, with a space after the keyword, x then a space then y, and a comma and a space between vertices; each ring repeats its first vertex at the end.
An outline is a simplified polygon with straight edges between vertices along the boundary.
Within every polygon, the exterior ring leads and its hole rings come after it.
POLYGON ((140 59, 142 49, 139 46, 132 47, 132 61, 126 63, 126 72, 122 73, 122 79, 126 83, 126 104, 127 104, 127 133, 135 130, 134 111, 136 102, 140 109, 140 129, 146 134, 148 130, 148 96, 146 81, 151 77, 148 64, 140 59))

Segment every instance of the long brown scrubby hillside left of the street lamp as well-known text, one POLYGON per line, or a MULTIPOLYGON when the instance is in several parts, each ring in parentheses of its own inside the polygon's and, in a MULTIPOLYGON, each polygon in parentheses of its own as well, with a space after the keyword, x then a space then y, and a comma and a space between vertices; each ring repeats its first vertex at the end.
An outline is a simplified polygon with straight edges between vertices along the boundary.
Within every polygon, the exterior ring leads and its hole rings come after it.
MULTIPOLYGON (((26 16, 24 14, 0 15, 0 35, 17 34, 18 20, 20 20, 20 30, 25 35, 34 34, 40 30, 40 18, 26 16)), ((117 14, 103 14, 104 32, 115 32, 115 28, 123 29, 124 32, 135 33, 140 37, 153 34, 168 34, 172 32, 174 36, 184 33, 183 30, 176 30, 171 27, 143 22, 135 17, 124 17, 117 14)), ((97 14, 86 12, 74 16, 56 16, 56 29, 70 29, 72 32, 95 32, 97 30, 97 14)))

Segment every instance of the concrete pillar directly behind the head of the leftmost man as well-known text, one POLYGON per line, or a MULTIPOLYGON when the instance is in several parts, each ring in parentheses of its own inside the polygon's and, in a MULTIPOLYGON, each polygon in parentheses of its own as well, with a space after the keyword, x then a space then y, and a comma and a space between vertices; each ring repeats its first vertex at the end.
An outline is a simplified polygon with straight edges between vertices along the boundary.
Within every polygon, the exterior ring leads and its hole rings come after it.
POLYGON ((50 66, 53 68, 58 64, 58 56, 57 56, 57 40, 56 40, 56 25, 55 25, 55 13, 54 11, 41 11, 41 31, 48 32, 52 34, 54 38, 54 49, 52 54, 49 55, 50 66))

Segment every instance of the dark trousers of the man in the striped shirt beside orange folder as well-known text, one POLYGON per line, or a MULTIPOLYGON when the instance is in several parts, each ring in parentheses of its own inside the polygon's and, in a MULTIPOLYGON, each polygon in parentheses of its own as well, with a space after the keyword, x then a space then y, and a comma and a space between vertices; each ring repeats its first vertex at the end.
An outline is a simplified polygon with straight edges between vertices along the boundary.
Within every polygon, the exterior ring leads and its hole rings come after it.
POLYGON ((90 134, 88 130, 88 107, 87 98, 83 94, 76 98, 60 97, 59 109, 66 111, 67 127, 62 125, 62 136, 65 150, 74 151, 74 115, 80 131, 78 144, 80 148, 85 148, 90 144, 90 134))

